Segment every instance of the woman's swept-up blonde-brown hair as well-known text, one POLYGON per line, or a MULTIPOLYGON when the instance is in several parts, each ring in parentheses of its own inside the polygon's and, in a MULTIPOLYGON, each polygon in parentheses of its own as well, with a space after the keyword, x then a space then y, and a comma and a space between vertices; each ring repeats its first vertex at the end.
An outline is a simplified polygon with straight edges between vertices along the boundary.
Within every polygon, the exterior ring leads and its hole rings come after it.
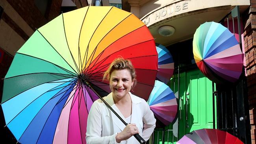
POLYGON ((136 74, 135 74, 135 69, 134 66, 132 65, 132 62, 128 59, 123 59, 123 58, 116 58, 114 61, 109 65, 108 70, 104 73, 103 80, 104 79, 110 79, 111 73, 114 70, 124 70, 127 69, 130 71, 130 74, 132 76, 132 80, 134 80, 134 86, 136 84, 136 74))

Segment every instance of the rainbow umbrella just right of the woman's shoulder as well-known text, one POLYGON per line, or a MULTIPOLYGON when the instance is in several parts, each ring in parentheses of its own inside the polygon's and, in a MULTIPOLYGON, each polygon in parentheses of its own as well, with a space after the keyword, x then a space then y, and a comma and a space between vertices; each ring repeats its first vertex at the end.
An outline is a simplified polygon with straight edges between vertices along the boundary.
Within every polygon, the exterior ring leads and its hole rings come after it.
POLYGON ((155 81, 155 87, 149 96, 148 105, 156 119, 158 119, 158 126, 163 124, 168 126, 176 117, 178 108, 176 97, 173 90, 161 81, 155 81))

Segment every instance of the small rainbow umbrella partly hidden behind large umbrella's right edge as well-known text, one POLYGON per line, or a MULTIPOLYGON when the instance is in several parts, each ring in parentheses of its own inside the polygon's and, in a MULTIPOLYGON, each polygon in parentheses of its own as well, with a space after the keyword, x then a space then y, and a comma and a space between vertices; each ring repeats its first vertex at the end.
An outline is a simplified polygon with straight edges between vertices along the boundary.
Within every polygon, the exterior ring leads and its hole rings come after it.
POLYGON ((174 61, 169 50, 161 44, 156 44, 158 53, 158 72, 156 78, 163 83, 168 83, 173 76, 174 61))

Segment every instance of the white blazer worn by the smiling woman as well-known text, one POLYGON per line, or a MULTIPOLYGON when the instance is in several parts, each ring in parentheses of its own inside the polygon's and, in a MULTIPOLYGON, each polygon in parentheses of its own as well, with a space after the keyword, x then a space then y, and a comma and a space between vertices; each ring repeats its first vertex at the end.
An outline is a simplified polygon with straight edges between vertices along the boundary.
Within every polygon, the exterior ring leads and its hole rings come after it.
MULTIPOLYGON (((139 129, 139 135, 147 141, 156 127, 156 119, 145 100, 130 92, 129 94, 132 100, 131 123, 136 124, 139 129)), ((113 93, 111 92, 108 96, 104 97, 104 100, 124 120, 124 116, 116 107, 112 95, 113 93)), ((117 118, 117 116, 102 102, 102 100, 98 99, 91 106, 91 110, 88 115, 86 143, 119 144, 116 142, 115 136, 117 133, 120 133, 124 127, 125 125, 121 120, 117 118)), ((120 144, 139 144, 139 142, 134 136, 132 136, 128 140, 121 141, 120 144)))

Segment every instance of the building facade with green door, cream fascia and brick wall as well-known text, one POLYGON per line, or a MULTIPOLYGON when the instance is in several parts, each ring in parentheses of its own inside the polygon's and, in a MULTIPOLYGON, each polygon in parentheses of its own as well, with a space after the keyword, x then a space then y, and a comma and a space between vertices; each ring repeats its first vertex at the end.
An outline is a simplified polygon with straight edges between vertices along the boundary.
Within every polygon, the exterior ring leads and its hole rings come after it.
POLYGON ((255 143, 255 6, 255 0, 122 0, 122 9, 140 18, 155 42, 166 46, 174 58, 169 85, 179 98, 178 118, 156 129, 152 143, 173 143, 201 128, 222 129, 255 143), (212 21, 234 33, 245 54, 245 71, 232 85, 213 86, 195 65, 193 35, 201 24, 212 21))

